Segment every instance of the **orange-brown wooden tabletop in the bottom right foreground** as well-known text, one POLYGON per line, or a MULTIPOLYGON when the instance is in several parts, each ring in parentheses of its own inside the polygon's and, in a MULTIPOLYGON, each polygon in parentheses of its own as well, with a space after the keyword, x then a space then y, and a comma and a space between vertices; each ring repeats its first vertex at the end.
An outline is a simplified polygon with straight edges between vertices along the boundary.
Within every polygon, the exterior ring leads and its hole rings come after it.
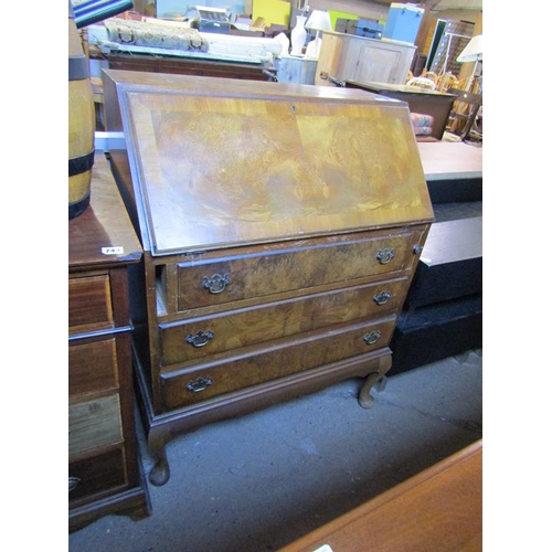
POLYGON ((280 552, 476 551, 482 550, 481 540, 479 440, 280 552))

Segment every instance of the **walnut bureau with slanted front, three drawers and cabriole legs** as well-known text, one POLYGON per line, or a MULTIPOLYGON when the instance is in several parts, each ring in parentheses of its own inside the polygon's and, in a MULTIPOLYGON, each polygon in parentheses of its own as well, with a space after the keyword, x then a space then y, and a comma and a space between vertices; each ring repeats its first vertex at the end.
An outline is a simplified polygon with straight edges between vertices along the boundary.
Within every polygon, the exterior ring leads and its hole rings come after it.
POLYGON ((135 363, 155 485, 202 424, 391 367, 433 210, 407 105, 360 91, 104 72, 141 238, 135 363))

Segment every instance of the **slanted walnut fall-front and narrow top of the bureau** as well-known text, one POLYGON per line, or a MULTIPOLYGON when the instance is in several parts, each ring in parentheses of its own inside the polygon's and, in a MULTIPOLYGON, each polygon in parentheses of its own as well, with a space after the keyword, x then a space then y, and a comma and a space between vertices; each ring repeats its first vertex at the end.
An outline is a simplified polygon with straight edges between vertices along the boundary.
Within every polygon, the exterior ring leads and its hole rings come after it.
POLYGON ((433 220, 403 103, 322 86, 140 74, 132 82, 124 73, 117 102, 153 255, 433 220))

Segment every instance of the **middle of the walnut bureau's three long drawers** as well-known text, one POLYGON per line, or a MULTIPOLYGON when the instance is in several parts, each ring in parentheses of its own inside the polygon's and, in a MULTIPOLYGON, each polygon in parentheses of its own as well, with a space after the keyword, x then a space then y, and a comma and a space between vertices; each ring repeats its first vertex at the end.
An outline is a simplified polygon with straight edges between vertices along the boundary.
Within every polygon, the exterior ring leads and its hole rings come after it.
POLYGON ((161 363, 172 364, 397 310, 406 277, 160 325, 161 363))

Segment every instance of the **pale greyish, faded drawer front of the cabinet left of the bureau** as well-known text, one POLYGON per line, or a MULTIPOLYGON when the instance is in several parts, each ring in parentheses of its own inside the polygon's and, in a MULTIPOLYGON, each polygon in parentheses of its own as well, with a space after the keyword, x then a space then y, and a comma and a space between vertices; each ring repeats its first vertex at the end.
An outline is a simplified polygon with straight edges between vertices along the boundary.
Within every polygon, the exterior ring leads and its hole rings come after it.
POLYGON ((123 442, 119 395, 113 394, 70 405, 68 454, 123 442))

